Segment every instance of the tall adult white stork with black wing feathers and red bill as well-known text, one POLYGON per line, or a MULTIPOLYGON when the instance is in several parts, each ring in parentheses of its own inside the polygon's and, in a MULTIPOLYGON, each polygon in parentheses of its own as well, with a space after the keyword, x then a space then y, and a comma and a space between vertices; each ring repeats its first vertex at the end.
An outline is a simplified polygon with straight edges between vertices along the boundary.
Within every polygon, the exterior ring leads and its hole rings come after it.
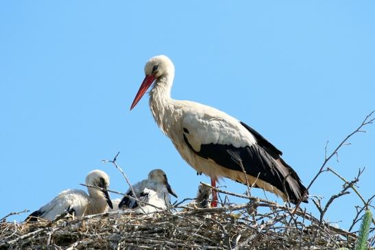
MULTIPOLYGON (((306 188, 293 168, 280 158, 282 152, 252 127, 220 110, 172 99, 174 75, 174 65, 167 56, 149 59, 145 79, 130 110, 154 83, 149 92, 149 107, 156 123, 182 158, 197 173, 211 178, 212 186, 219 178, 228 177, 298 203, 306 188)), ((217 205, 216 192, 212 205, 217 205)))

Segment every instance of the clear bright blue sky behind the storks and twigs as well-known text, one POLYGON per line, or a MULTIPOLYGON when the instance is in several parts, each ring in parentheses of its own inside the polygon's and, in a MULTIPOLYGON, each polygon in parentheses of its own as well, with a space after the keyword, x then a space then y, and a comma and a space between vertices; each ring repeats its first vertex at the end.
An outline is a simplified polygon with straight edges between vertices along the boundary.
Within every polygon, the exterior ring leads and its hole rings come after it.
MULTIPOLYGON (((125 191, 119 171, 101 164, 117 151, 132 182, 162 168, 181 198, 209 182, 160 132, 147 97, 129 111, 146 60, 159 54, 176 65, 174 98, 251 125, 309 184, 326 141, 332 149, 375 109, 374 8, 374 1, 2 1, 0 217, 84 188, 95 168, 125 191)), ((350 142, 329 166, 347 179, 365 166, 359 190, 370 197, 375 125, 350 142)), ((326 173, 311 194, 325 203, 341 184, 326 173)), ((348 195, 327 218, 348 227, 360 204, 348 195)))

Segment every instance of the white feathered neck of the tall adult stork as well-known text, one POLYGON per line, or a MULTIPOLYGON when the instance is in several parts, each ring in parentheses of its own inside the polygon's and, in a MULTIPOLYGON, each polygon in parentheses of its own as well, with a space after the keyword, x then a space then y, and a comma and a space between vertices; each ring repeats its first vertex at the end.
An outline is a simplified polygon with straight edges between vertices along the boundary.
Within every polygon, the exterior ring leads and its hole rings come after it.
POLYGON ((149 108, 160 129, 168 134, 171 127, 171 112, 173 110, 173 99, 171 99, 171 88, 174 74, 169 73, 156 79, 152 90, 149 92, 149 108))

